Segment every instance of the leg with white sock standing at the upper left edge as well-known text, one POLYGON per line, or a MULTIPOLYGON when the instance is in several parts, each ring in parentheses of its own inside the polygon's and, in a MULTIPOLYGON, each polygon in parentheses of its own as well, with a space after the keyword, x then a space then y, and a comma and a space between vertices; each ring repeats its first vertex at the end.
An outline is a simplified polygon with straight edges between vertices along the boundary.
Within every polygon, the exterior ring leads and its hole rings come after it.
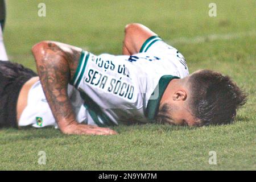
POLYGON ((5 44, 3 44, 3 27, 5 24, 5 1, 0 0, 0 60, 7 61, 8 57, 5 50, 5 44))

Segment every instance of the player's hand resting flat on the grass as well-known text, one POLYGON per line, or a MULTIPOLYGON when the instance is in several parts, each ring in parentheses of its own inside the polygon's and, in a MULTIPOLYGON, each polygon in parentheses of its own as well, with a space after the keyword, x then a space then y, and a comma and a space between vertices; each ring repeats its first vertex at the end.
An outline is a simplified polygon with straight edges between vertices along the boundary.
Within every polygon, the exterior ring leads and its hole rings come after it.
POLYGON ((92 125, 72 124, 62 130, 64 134, 75 135, 115 135, 118 134, 108 127, 98 127, 92 125))

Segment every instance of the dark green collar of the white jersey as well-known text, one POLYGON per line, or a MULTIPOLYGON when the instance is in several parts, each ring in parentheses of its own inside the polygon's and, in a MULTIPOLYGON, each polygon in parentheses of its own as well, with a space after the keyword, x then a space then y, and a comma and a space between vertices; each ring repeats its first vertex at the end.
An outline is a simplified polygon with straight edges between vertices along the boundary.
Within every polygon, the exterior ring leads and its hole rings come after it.
POLYGON ((162 99, 164 91, 166 90, 169 82, 171 80, 177 79, 177 78, 179 78, 179 77, 172 76, 172 75, 164 75, 160 78, 160 80, 158 82, 158 85, 156 86, 154 92, 151 94, 151 97, 150 97, 150 99, 148 100, 148 103, 147 103, 147 108, 146 108, 145 115, 151 121, 153 121, 155 119, 156 113, 158 112, 158 109, 159 109, 160 100, 162 99), (159 92, 158 98, 152 99, 154 93, 157 92, 157 90, 159 92))

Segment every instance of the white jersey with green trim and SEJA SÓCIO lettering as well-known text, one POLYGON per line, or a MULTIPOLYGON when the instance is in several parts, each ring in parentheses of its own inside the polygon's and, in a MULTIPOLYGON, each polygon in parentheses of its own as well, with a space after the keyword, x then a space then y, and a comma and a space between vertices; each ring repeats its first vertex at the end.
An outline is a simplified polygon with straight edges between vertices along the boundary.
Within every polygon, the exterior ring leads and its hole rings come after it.
MULTIPOLYGON (((181 53, 159 36, 152 36, 131 56, 96 56, 82 51, 68 93, 79 123, 111 126, 154 122, 168 83, 185 76, 188 68, 181 53)), ((40 81, 30 89, 19 121, 19 126, 27 125, 57 127, 40 81)))

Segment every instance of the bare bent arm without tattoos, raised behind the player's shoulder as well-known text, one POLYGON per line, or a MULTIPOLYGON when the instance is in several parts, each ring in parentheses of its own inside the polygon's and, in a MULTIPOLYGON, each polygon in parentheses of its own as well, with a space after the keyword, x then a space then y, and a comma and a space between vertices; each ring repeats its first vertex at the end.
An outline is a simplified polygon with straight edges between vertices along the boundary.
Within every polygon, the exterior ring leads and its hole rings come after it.
POLYGON ((154 32, 142 24, 127 24, 125 27, 125 39, 123 40, 123 55, 139 53, 143 43, 155 35, 154 32))

